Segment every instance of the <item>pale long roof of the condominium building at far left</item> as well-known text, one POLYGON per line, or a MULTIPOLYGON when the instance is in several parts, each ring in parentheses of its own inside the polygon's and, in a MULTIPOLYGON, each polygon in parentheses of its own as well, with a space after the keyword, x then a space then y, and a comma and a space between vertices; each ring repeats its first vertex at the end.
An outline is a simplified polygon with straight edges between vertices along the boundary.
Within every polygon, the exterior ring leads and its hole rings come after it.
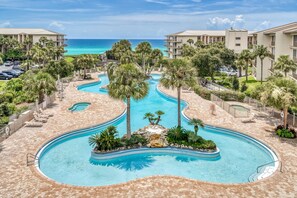
POLYGON ((32 35, 63 35, 46 29, 33 28, 0 28, 0 34, 16 35, 16 34, 32 34, 32 35))

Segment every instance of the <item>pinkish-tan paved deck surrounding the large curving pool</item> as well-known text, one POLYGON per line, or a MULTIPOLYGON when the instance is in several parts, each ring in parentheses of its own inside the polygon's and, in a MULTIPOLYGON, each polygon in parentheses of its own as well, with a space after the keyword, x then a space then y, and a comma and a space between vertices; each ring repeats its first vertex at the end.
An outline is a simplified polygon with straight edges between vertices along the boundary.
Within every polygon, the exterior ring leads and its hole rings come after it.
MULTIPOLYGON (((26 154, 35 153, 49 139, 65 132, 108 121, 121 114, 125 105, 108 96, 77 91, 70 83, 66 98, 47 109, 55 116, 42 128, 22 128, 1 143, 0 197, 297 197, 297 141, 282 140, 264 127, 268 120, 243 124, 219 107, 211 115, 211 102, 194 93, 183 93, 189 103, 188 117, 205 123, 234 129, 262 140, 277 152, 283 162, 283 173, 264 180, 237 185, 211 184, 180 177, 155 176, 106 187, 74 187, 60 185, 41 176, 34 167, 26 166, 26 154), (67 109, 76 102, 91 102, 87 111, 71 113, 67 109)), ((175 91, 161 91, 175 96, 175 91)), ((248 163, 248 162, 247 162, 248 163)), ((227 167, 226 167, 227 168, 227 167)))

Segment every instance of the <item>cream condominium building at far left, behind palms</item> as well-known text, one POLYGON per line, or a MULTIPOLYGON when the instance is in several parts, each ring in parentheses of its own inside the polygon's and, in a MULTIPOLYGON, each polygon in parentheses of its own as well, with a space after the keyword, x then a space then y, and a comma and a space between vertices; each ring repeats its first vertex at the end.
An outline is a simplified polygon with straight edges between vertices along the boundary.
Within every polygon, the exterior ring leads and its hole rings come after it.
POLYGON ((46 37, 55 42, 56 46, 65 46, 65 35, 45 29, 31 28, 0 28, 0 37, 14 38, 20 43, 29 38, 32 43, 37 43, 41 37, 46 37))

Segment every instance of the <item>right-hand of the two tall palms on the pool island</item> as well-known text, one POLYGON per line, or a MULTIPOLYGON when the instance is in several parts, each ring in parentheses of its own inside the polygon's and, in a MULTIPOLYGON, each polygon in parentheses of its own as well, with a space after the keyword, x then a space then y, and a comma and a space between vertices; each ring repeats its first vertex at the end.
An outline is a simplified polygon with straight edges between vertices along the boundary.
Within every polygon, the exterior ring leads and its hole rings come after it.
POLYGON ((181 126, 181 88, 183 86, 194 86, 196 84, 196 70, 192 68, 189 63, 183 59, 174 59, 166 67, 160 82, 165 88, 177 88, 178 101, 178 126, 181 126))

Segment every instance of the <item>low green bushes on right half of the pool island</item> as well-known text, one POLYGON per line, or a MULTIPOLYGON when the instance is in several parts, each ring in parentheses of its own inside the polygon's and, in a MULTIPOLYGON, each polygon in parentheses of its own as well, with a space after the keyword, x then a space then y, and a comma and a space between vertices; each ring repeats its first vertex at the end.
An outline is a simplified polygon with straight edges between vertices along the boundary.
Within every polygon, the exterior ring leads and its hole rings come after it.
POLYGON ((216 144, 212 140, 205 140, 190 130, 182 127, 173 127, 168 130, 167 141, 169 144, 190 146, 194 149, 215 150, 216 144))

